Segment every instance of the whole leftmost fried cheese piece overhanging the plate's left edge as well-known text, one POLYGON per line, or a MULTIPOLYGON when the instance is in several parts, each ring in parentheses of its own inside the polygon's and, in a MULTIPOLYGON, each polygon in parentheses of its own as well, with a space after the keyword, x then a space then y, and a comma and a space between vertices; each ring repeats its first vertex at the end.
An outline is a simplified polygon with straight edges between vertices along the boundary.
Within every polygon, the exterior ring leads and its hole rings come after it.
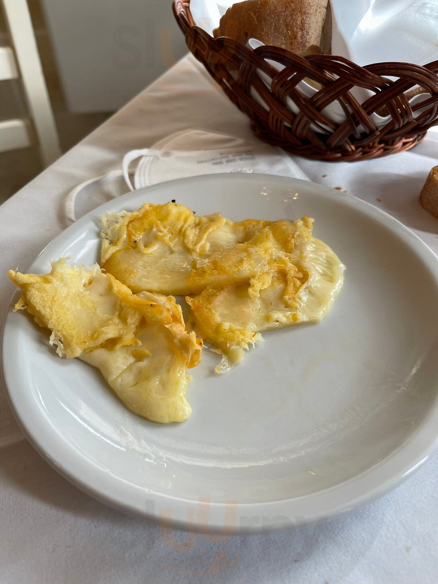
POLYGON ((201 358, 202 343, 187 332, 175 298, 129 288, 96 264, 61 258, 49 274, 8 276, 23 291, 15 310, 27 309, 51 331, 60 356, 97 367, 132 412, 155 422, 182 422, 191 413, 187 368, 201 358))

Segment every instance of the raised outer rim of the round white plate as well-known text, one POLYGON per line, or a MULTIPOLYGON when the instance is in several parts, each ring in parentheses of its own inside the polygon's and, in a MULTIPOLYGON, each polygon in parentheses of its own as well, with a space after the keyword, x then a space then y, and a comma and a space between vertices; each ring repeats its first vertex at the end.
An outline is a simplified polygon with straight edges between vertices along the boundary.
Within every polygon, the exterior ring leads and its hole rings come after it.
MULTIPOLYGON (((331 187, 325 185, 319 185, 318 183, 312 183, 308 180, 294 179, 284 176, 277 175, 265 175, 265 174, 246 174, 246 173, 217 173, 210 175, 199 175, 194 177, 186 177, 182 179, 174 179, 157 185, 151 185, 138 189, 137 191, 126 193, 107 201, 103 205, 96 207, 95 209, 86 213, 84 217, 81 217, 74 224, 69 225, 64 231, 61 231, 52 241, 37 255, 37 258, 32 262, 29 270, 38 263, 40 256, 47 249, 54 244, 55 241, 58 245, 64 245, 64 239, 69 237, 69 234, 74 230, 80 230, 82 225, 85 226, 88 221, 95 221, 96 216, 106 213, 107 209, 113 210, 114 201, 120 203, 120 208, 126 201, 129 201, 133 197, 144 196, 147 193, 151 193, 154 196, 154 190, 160 189, 173 189, 178 187, 182 183, 197 183, 203 182, 203 180, 244 180, 259 183, 263 180, 269 180, 270 182, 276 182, 277 186, 288 186, 292 185, 302 185, 307 187, 314 187, 315 194, 321 196, 328 196, 329 198, 335 198, 338 202, 344 202, 347 206, 352 206, 363 212, 365 215, 369 215, 376 219, 379 223, 385 225, 392 234, 397 235, 401 238, 405 244, 407 244, 413 252, 422 260, 423 265, 434 277, 437 288, 438 288, 438 257, 434 254, 432 249, 425 244, 425 242, 418 237, 414 232, 409 230, 401 221, 398 221, 392 215, 385 213, 385 211, 374 206, 367 201, 361 200, 354 197, 349 193, 340 194, 338 190, 332 189, 331 187), (342 198, 341 198, 342 197, 342 198)), ((295 187, 293 187, 295 188, 295 187)), ((129 203, 128 203, 129 204, 129 203)), ((93 473, 99 478, 99 469, 91 461, 87 460, 85 457, 80 457, 78 451, 72 446, 67 440, 58 440, 58 444, 53 444, 50 442, 48 436, 42 436, 44 434, 44 424, 40 427, 38 423, 33 424, 35 420, 32 411, 26 412, 26 403, 18 404, 14 397, 13 391, 13 380, 14 375, 11 371, 8 371, 9 359, 13 356, 11 354, 11 346, 13 343, 5 342, 5 338, 8 335, 13 338, 13 331, 15 330, 11 324, 11 314, 13 305, 16 302, 16 298, 20 295, 20 291, 16 290, 13 294, 11 304, 9 305, 8 312, 6 313, 6 318, 4 322, 4 327, 2 330, 1 339, 1 373, 5 384, 6 397, 8 398, 9 406, 12 409, 13 415, 15 416, 17 422, 23 433, 25 433, 27 439, 32 443, 33 447, 37 452, 46 460, 55 470, 60 472, 60 474, 67 478, 69 482, 72 482, 75 486, 78 486, 82 491, 86 492, 88 495, 106 503, 109 506, 114 507, 118 510, 123 510, 124 512, 130 513, 131 515, 140 516, 152 523, 161 523, 166 526, 172 526, 175 529, 187 529, 189 523, 186 516, 187 506, 193 506, 193 500, 178 498, 176 496, 165 495, 163 493, 147 491, 147 489, 142 489, 144 494, 150 496, 154 501, 159 502, 161 508, 170 508, 172 514, 172 521, 169 524, 166 520, 163 520, 158 516, 156 512, 148 512, 146 509, 140 509, 138 505, 130 505, 127 503, 126 499, 123 500, 120 496, 110 494, 108 489, 98 489, 91 484, 90 481, 86 481, 80 477, 81 465, 91 467, 93 473), (47 444, 48 439, 48 444, 47 444), (60 445, 62 446, 60 448, 60 445), (61 451, 65 451, 68 456, 60 456, 61 451), (74 454, 75 456, 72 456, 74 454), (78 463, 75 459, 78 458, 78 463), (76 466, 78 464, 78 466, 76 466), (72 468, 73 467, 73 468, 72 468)), ((29 404, 27 404, 29 405, 29 404)), ((301 526, 309 526, 315 523, 321 523, 329 519, 335 519, 349 513, 353 510, 359 509, 361 506, 367 505, 374 500, 385 495, 385 493, 390 492, 396 486, 405 481, 414 472, 416 472, 420 466, 426 462, 426 460, 438 450, 438 399, 434 401, 433 406, 430 408, 430 412, 422 420, 420 425, 416 430, 405 440, 404 443, 400 444, 398 449, 393 451, 388 457, 380 461, 373 467, 367 469, 364 472, 342 482, 338 485, 332 486, 328 489, 323 489, 322 491, 317 491, 316 493, 311 493, 310 495, 302 495, 300 497, 292 499, 282 499, 267 502, 255 502, 255 503, 239 503, 238 511, 244 510, 244 512, 250 512, 258 510, 255 516, 262 517, 263 510, 270 510, 271 519, 276 519, 279 516, 284 516, 284 522, 270 522, 269 520, 266 524, 262 526, 237 526, 237 524, 227 531, 227 527, 224 527, 224 503, 211 503, 209 506, 210 517, 207 523, 197 523, 197 529, 204 533, 210 533, 210 529, 221 529, 221 533, 234 533, 234 534, 261 534, 261 533, 272 533, 274 531, 286 531, 294 529, 301 526), (360 482, 361 489, 358 488, 357 482, 360 482), (342 497, 344 495, 344 497, 342 497), (319 502, 318 500, 320 499, 319 502), (327 500, 326 500, 327 499, 327 500), (326 500, 326 502, 325 502, 326 500), (300 503, 301 509, 300 515, 297 515, 297 502, 300 503), (318 505, 319 503, 319 505, 318 505), (313 506, 313 507, 312 507, 313 506), (295 507, 295 514, 288 512, 285 507, 288 507, 289 511, 293 510, 295 507), (270 509, 269 509, 270 508, 270 509), (304 509, 307 511, 304 512, 304 509), (303 513, 303 515, 301 515, 303 513)), ((50 425, 47 425, 48 427, 50 425)), ((47 429, 46 429, 47 430, 47 429)), ((102 478, 102 475, 100 475, 102 478)), ((121 481, 122 479, 114 479, 113 481, 121 481)), ((111 486, 110 484, 108 486, 111 486)), ((140 489, 139 487, 133 486, 134 490, 140 489)), ((110 489, 111 490, 111 489, 110 489)), ((114 490, 114 489, 113 489, 114 490)), ((200 505, 200 503, 199 503, 200 505)))

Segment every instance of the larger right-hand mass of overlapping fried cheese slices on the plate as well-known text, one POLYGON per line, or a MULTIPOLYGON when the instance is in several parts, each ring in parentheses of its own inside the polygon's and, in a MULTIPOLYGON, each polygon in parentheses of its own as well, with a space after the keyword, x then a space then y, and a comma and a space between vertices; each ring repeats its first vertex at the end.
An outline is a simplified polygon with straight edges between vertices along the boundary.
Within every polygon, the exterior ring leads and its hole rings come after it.
POLYGON ((184 294, 194 331, 223 355, 225 373, 260 332, 327 314, 344 266, 312 236, 313 220, 198 217, 177 203, 146 203, 102 218, 102 267, 134 292, 184 294))

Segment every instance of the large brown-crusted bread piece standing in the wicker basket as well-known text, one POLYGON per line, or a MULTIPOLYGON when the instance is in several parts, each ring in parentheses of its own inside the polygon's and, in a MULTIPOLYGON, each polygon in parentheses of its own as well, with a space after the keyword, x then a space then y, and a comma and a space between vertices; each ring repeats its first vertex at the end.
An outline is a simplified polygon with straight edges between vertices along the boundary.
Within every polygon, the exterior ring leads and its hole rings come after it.
POLYGON ((245 0, 228 8, 213 35, 242 44, 258 39, 300 55, 330 54, 331 29, 328 0, 245 0))

